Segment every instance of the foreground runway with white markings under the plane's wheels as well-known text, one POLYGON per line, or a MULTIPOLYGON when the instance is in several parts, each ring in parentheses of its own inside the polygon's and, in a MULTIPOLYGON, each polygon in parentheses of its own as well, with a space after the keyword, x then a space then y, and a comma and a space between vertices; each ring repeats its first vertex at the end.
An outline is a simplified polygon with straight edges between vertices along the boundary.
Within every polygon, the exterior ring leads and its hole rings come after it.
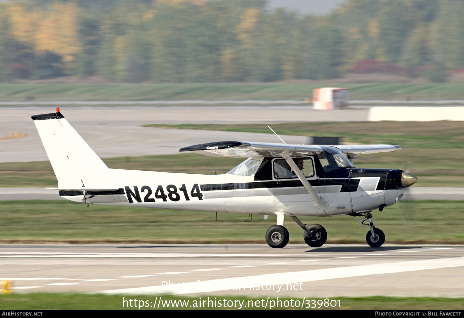
POLYGON ((0 245, 0 265, 15 292, 464 296, 464 246, 0 245))

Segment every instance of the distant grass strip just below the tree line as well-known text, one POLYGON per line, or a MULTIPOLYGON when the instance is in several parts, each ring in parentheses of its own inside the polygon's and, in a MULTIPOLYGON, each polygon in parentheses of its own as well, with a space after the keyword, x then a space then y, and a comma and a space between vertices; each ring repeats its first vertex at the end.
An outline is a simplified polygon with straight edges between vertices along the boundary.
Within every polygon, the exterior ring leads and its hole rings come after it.
POLYGON ((0 101, 51 100, 303 100, 321 87, 343 87, 351 99, 464 99, 461 83, 440 84, 39 84, 1 83, 0 101))

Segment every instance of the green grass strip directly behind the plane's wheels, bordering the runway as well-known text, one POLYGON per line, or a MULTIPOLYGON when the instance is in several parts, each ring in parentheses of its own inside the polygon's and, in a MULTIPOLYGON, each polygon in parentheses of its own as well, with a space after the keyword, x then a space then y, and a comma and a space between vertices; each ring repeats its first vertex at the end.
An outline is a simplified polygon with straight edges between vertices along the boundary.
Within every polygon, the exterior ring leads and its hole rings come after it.
MULTIPOLYGON (((464 244, 464 201, 400 201, 374 221, 386 244, 464 244)), ((276 216, 90 205, 71 201, 2 201, 0 243, 264 244, 276 216), (247 221, 247 222, 245 222, 247 221), (248 222, 249 221, 249 222, 248 222)), ((326 228, 327 243, 366 244, 359 217, 301 217, 326 228)), ((304 244, 303 230, 287 220, 290 244, 304 244)))

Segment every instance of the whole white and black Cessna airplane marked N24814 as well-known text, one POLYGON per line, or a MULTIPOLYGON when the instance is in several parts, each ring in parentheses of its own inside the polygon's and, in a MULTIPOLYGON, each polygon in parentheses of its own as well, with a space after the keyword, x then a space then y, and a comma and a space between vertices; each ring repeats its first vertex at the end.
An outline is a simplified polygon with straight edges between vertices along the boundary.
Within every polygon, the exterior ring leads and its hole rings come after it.
POLYGON ((326 230, 298 216, 362 216, 366 240, 380 247, 385 234, 371 212, 398 202, 417 181, 398 169, 354 168, 361 154, 401 149, 398 145, 290 145, 224 141, 180 149, 209 156, 248 158, 225 175, 194 175, 109 169, 81 136, 56 113, 32 116, 58 179, 59 195, 87 204, 277 215, 266 233, 271 247, 284 247, 288 216, 303 228, 304 241, 320 247, 326 230), (367 225, 367 224, 365 224, 367 225))

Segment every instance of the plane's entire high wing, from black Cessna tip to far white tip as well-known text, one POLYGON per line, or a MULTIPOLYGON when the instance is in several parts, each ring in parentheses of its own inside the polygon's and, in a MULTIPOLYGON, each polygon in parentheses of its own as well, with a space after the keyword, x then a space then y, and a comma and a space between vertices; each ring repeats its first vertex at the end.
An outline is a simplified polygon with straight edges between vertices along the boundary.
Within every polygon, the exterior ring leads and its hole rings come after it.
POLYGON ((294 145, 284 143, 254 143, 241 141, 222 141, 216 143, 202 143, 181 148, 179 151, 194 151, 207 156, 229 157, 280 157, 283 153, 290 156, 311 156, 324 151, 325 147, 335 147, 348 158, 361 154, 388 152, 401 149, 398 145, 294 145))

